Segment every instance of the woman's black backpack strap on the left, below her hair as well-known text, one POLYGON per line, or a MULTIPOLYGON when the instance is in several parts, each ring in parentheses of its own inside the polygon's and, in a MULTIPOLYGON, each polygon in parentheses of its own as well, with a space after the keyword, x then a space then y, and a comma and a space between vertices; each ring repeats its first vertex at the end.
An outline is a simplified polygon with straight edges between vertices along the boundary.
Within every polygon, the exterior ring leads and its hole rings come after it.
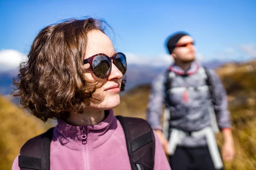
POLYGON ((29 139, 20 149, 20 170, 49 170, 50 144, 54 127, 29 139))

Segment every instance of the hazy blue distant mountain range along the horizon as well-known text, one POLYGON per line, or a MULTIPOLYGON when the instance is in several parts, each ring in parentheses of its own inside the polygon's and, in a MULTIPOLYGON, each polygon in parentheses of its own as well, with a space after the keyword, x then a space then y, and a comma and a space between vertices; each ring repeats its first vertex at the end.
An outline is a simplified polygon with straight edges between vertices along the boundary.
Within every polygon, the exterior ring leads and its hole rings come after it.
MULTIPOLYGON (((206 62, 203 65, 209 68, 217 68, 225 64, 221 60, 212 60, 211 62, 206 62)), ((158 74, 164 71, 167 66, 152 66, 152 65, 128 65, 128 70, 126 72, 126 86, 125 90, 129 90, 140 84, 150 83, 158 74)), ((0 94, 8 95, 12 92, 12 79, 17 77, 15 71, 4 71, 0 72, 0 94)))

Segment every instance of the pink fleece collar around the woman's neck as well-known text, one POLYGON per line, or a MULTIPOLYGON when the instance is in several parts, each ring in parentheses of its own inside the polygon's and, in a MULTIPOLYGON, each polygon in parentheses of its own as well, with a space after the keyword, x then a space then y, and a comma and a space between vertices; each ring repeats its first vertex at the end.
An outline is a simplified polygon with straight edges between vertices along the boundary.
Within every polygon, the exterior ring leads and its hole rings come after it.
POLYGON ((81 150, 86 144, 90 148, 95 148, 110 138, 113 130, 116 129, 116 121, 112 109, 108 111, 108 116, 98 125, 72 126, 64 120, 58 119, 53 140, 58 140, 62 145, 73 150, 81 150))

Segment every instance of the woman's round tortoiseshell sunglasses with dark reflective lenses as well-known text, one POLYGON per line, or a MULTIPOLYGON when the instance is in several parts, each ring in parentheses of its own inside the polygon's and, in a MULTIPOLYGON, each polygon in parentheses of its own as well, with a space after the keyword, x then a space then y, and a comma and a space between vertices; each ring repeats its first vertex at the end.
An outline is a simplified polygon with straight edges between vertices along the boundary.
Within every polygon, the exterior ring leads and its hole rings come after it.
POLYGON ((95 54, 87 59, 83 60, 83 65, 90 63, 90 67, 93 71, 93 74, 96 77, 105 79, 111 73, 111 60, 113 59, 113 64, 121 71, 122 74, 125 74, 127 70, 127 63, 125 54, 119 52, 116 53, 113 57, 108 57, 106 54, 95 54))

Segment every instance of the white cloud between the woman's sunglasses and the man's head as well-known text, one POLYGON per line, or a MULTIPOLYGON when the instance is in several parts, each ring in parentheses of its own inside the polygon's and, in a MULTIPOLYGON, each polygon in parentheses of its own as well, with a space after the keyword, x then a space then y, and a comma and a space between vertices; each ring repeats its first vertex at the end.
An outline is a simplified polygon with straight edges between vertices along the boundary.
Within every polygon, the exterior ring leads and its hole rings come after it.
POLYGON ((158 54, 155 57, 133 53, 125 53, 125 55, 128 64, 167 66, 173 62, 173 58, 169 54, 158 54))

